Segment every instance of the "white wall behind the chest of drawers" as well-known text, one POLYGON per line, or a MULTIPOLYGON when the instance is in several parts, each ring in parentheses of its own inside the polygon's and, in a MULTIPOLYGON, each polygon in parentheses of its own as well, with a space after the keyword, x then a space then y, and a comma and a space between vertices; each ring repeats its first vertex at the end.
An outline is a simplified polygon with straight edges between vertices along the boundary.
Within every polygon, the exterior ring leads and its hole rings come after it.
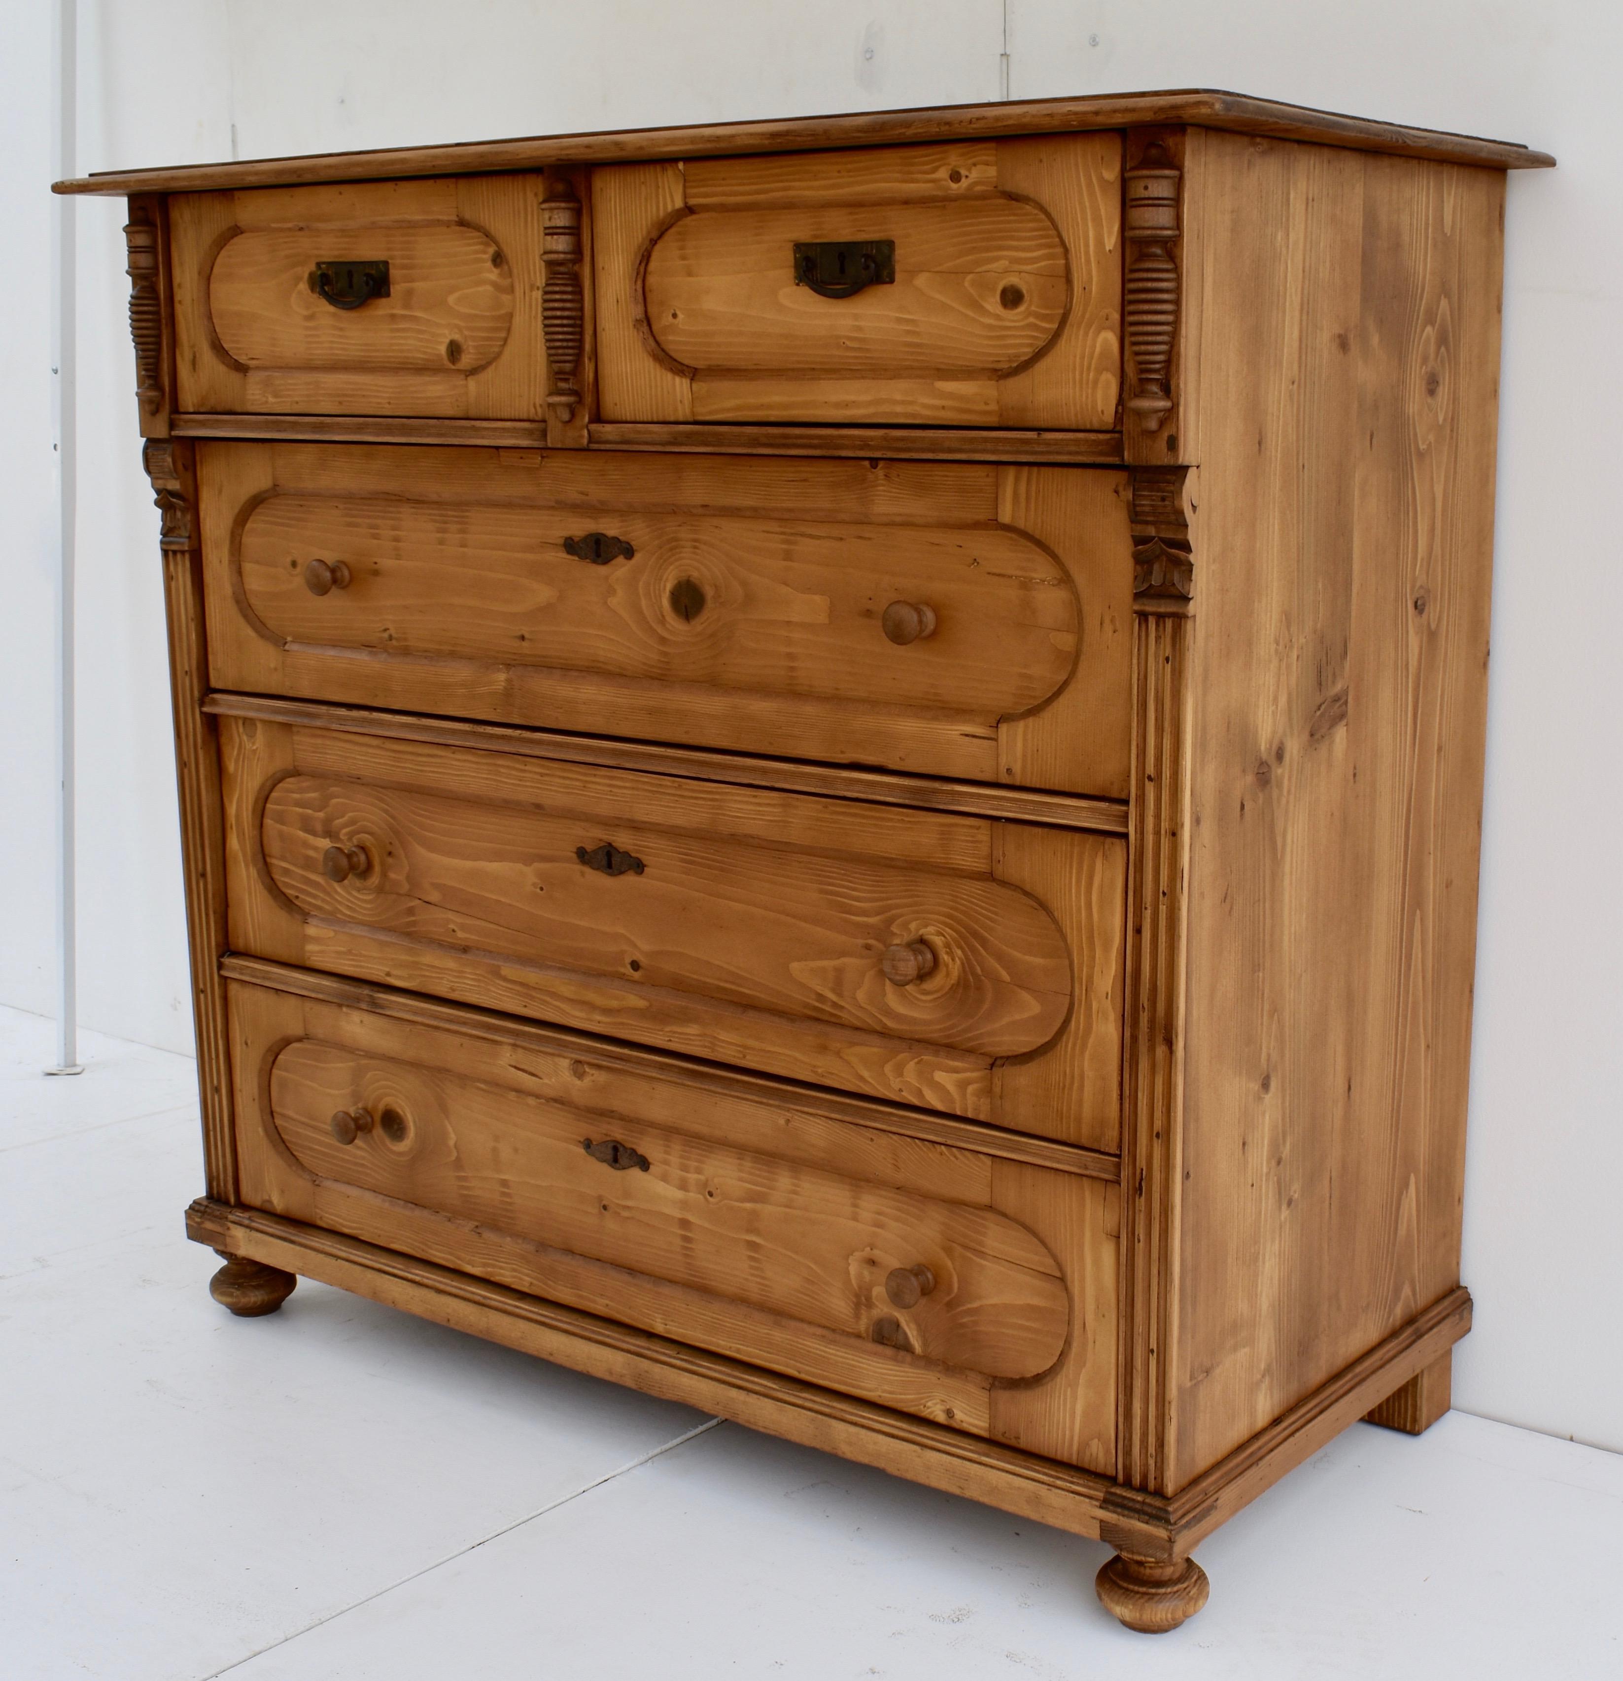
MULTIPOLYGON (((82 3, 82 168, 991 99, 1002 0, 82 3)), ((1623 1449, 1623 7, 1009 0, 1016 97, 1231 87, 1561 158, 1510 180, 1455 1400, 1623 1449)), ((49 7, 0 17, 0 1000, 50 1009, 49 7)), ((155 514, 121 207, 81 217, 84 1020, 183 1046, 155 514)))

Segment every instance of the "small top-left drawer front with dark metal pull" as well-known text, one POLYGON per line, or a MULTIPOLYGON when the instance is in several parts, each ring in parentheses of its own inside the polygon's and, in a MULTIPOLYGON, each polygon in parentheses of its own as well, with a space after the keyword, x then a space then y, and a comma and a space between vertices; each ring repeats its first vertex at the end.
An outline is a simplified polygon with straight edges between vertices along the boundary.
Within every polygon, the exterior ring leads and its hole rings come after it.
POLYGON ((542 417, 540 197, 508 175, 172 198, 180 407, 542 417))

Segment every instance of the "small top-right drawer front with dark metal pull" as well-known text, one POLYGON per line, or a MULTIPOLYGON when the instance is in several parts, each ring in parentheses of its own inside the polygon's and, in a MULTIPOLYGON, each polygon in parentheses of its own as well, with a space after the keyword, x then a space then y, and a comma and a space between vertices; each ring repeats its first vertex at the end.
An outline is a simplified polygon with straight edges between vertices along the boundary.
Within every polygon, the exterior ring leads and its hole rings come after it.
POLYGON ((1110 430, 1120 140, 594 171, 605 420, 1110 430))

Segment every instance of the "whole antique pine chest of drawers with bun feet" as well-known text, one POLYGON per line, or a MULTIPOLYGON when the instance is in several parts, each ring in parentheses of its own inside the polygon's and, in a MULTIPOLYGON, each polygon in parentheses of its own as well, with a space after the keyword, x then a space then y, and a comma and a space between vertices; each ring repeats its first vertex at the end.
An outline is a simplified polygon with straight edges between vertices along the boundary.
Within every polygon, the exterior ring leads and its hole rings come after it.
POLYGON ((1135 94, 130 195, 215 1296, 1108 1541, 1425 1429, 1504 171, 1135 94))

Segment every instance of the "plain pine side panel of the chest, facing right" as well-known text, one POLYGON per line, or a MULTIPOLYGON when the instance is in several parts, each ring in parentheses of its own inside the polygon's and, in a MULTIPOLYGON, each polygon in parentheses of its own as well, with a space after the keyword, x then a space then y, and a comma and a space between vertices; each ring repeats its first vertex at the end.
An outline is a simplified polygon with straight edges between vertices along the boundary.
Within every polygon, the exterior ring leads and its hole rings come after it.
POLYGON ((1171 1488, 1458 1281, 1504 192, 1197 138, 1171 1488))

